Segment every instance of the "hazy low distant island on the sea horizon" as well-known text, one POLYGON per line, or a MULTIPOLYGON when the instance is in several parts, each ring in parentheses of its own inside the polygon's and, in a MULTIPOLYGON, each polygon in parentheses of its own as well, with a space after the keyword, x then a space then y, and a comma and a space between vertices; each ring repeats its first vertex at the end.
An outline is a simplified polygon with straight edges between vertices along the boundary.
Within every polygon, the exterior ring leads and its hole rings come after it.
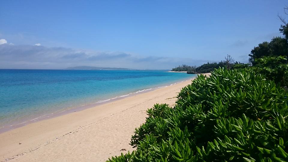
POLYGON ((131 69, 131 68, 121 68, 121 67, 94 67, 94 66, 68 67, 64 70, 156 70, 156 71, 170 71, 170 69, 131 69))

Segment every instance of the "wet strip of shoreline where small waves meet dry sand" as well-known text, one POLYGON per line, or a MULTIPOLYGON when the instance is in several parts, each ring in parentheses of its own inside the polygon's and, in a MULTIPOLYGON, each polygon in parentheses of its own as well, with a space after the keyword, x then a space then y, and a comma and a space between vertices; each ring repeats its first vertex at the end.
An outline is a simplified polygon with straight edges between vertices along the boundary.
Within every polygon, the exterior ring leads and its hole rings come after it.
POLYGON ((7 131, 10 131, 10 130, 13 130, 13 129, 16 129, 16 128, 21 128, 21 127, 23 127, 25 125, 29 125, 31 123, 40 122, 42 120, 52 119, 52 118, 55 118, 55 117, 58 117, 58 116, 62 116, 62 115, 66 115, 66 114, 69 114, 69 113, 82 111, 82 110, 85 110, 85 109, 89 109, 89 108, 96 107, 96 106, 99 106, 99 105, 102 105, 102 104, 106 104, 106 103, 110 103, 110 102, 113 102, 113 101, 121 100, 123 98, 127 98, 127 97, 134 96, 134 95, 137 95, 137 94, 142 94, 142 93, 146 93, 146 92, 149 92, 149 91, 153 91, 153 90, 158 89, 158 88, 163 88, 163 87, 175 85, 175 84, 178 84, 178 83, 181 83, 181 82, 185 82, 185 81, 188 81, 188 80, 191 80, 191 79, 195 79, 196 77, 197 76, 195 76, 193 78, 189 78, 187 80, 178 81, 178 82, 175 82, 175 83, 170 84, 170 85, 164 84, 164 85, 158 86, 158 87, 152 87, 152 88, 148 88, 148 89, 139 90, 139 91, 136 91, 136 92, 130 92, 130 93, 122 95, 122 96, 116 96, 114 98, 108 98, 107 100, 100 100, 100 101, 97 101, 95 103, 89 103, 89 104, 85 104, 85 105, 82 105, 82 106, 79 106, 79 107, 65 109, 65 110, 62 110, 62 111, 56 112, 56 113, 44 114, 44 115, 39 116, 39 117, 34 118, 34 119, 27 119, 25 121, 21 121, 20 123, 11 123, 8 126, 1 127, 0 128, 0 134, 2 134, 4 132, 7 132, 7 131))

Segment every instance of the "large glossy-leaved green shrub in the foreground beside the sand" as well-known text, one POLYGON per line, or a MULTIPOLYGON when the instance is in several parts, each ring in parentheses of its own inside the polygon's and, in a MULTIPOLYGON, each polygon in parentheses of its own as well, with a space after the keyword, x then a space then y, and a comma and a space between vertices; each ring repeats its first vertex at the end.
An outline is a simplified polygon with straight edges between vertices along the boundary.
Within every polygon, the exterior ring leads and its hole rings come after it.
POLYGON ((288 161, 287 97, 245 69, 199 75, 175 107, 147 110, 131 139, 136 151, 109 161, 288 161))

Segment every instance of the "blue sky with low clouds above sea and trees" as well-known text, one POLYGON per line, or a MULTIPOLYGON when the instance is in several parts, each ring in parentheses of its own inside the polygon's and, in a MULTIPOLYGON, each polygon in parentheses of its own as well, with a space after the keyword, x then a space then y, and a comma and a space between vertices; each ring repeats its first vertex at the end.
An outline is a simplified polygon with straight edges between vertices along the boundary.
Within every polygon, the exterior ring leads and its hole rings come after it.
MULTIPOLYGON (((0 68, 172 69, 246 63, 279 33, 285 0, 1 0, 0 68)), ((287 16, 286 16, 287 17, 287 16)), ((288 19, 288 17, 287 17, 288 19)))

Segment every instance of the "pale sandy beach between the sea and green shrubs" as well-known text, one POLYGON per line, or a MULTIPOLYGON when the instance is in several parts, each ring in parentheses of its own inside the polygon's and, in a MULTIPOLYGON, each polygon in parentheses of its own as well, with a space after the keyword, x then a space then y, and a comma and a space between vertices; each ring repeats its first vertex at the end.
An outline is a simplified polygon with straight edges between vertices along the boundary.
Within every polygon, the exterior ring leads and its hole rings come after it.
POLYGON ((175 105, 191 81, 155 89, 0 134, 0 161, 106 161, 128 150, 155 103, 175 105))

